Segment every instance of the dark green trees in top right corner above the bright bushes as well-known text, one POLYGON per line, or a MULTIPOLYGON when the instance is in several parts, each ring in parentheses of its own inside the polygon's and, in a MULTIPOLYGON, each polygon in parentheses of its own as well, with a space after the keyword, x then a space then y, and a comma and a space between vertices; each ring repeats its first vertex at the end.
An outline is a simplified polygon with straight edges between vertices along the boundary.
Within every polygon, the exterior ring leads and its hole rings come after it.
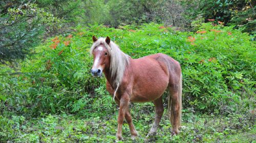
POLYGON ((244 32, 255 33, 255 1, 242 0, 193 0, 182 1, 185 7, 185 17, 190 22, 196 19, 203 21, 218 21, 225 25, 242 27, 244 32))

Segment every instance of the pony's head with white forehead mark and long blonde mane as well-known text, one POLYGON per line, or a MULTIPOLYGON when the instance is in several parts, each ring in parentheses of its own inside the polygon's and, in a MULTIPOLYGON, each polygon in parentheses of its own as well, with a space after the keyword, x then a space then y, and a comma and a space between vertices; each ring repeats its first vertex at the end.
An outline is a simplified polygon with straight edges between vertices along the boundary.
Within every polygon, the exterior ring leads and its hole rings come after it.
POLYGON ((122 80, 124 70, 130 62, 130 56, 124 54, 110 37, 97 39, 93 36, 91 54, 94 58, 91 73, 94 77, 100 77, 102 72, 109 69, 113 86, 122 80))

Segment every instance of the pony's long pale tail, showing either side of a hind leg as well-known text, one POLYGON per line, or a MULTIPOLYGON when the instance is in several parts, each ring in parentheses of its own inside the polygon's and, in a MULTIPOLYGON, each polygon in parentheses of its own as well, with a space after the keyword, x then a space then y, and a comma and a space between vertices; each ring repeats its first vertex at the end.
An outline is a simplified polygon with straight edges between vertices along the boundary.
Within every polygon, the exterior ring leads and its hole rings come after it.
MULTIPOLYGON (((179 81, 179 85, 178 85, 178 107, 179 107, 179 114, 178 114, 178 129, 181 127, 181 109, 182 109, 182 74, 180 75, 180 81, 179 81)), ((172 126, 174 127, 174 113, 172 111, 172 95, 168 94, 168 115, 170 118, 170 123, 172 124, 172 126)))

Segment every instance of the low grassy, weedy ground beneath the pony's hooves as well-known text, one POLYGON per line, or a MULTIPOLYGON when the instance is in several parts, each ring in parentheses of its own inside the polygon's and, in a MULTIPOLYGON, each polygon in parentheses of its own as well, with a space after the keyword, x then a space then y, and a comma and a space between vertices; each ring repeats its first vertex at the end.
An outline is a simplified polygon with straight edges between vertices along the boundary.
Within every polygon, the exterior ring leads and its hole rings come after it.
MULTIPOLYGON (((133 121, 139 136, 136 140, 132 140, 129 127, 124 123, 123 142, 144 141, 154 120, 154 112, 145 111, 133 108, 133 121)), ((12 116, 7 126, 11 126, 9 128, 13 130, 9 132, 14 136, 10 136, 9 140, 14 142, 116 141, 117 109, 113 114, 104 116, 97 116, 97 113, 88 114, 91 117, 50 114, 30 120, 26 120, 23 116, 12 116)), ((149 140, 152 142, 255 142, 254 121, 255 116, 251 113, 225 116, 202 115, 196 114, 192 109, 185 109, 179 135, 171 135, 172 127, 167 115, 164 114, 157 135, 149 140)))

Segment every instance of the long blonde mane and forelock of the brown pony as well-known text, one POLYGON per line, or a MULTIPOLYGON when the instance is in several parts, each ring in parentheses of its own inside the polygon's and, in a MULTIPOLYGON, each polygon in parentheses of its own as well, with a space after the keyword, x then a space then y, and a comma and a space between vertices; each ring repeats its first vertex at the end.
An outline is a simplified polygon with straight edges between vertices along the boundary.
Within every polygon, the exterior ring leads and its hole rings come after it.
POLYGON ((105 38, 99 38, 95 41, 90 49, 91 55, 93 54, 93 50, 100 44, 104 44, 106 50, 108 50, 110 55, 110 74, 111 79, 113 80, 112 86, 114 88, 118 88, 121 84, 124 70, 127 65, 130 63, 130 56, 124 54, 114 42, 110 42, 110 44, 106 43, 105 38))

